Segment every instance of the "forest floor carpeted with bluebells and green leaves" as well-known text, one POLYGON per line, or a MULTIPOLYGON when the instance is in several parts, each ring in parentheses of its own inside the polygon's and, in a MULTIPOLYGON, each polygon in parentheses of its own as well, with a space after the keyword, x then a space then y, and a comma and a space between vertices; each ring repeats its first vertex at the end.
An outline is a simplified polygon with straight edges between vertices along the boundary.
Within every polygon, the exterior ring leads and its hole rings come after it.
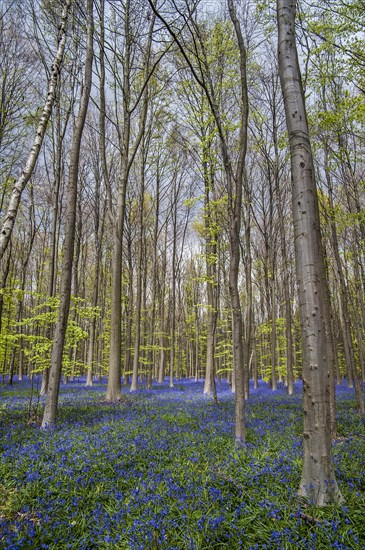
MULTIPOLYGON (((333 452, 344 504, 296 496, 301 388, 251 391, 248 444, 233 441, 233 396, 178 381, 106 404, 105 384, 63 385, 58 426, 39 429, 29 382, 0 385, 0 548, 365 549, 365 424, 337 389, 333 452), (31 412, 31 421, 29 421, 31 412)), ((38 416, 38 419, 37 419, 38 416)))

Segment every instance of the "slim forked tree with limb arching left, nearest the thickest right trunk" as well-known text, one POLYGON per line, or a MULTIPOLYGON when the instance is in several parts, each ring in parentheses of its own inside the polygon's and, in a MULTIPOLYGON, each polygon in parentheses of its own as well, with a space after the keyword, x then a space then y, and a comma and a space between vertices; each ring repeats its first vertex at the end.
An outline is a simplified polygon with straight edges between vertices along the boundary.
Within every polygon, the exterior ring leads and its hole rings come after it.
POLYGON ((240 22, 236 15, 236 9, 232 0, 228 0, 228 11, 235 31, 239 51, 239 136, 235 144, 238 155, 233 155, 228 141, 228 132, 225 129, 223 114, 219 109, 218 97, 212 80, 207 55, 205 51, 202 29, 196 19, 194 11, 196 5, 189 7, 186 3, 186 13, 183 15, 184 26, 188 26, 191 34, 191 44, 185 45, 178 33, 173 30, 172 25, 156 9, 152 1, 150 5, 156 16, 164 24, 179 51, 190 68, 194 79, 201 86, 206 94, 209 108, 217 126, 220 140, 221 154, 223 159, 224 172, 226 177, 228 206, 227 214, 229 220, 229 243, 230 243, 230 270, 229 289, 232 307, 233 322, 233 357, 236 386, 235 401, 235 440, 238 447, 245 444, 246 430, 244 421, 244 353, 243 353, 243 321, 240 293, 238 287, 239 266, 240 266, 240 229, 242 214, 242 189, 245 177, 245 160, 247 152, 247 125, 248 125, 248 93, 247 93, 247 49, 244 43, 240 22), (191 24, 191 26, 190 26, 191 24), (190 52, 193 52, 193 59, 190 52), (196 64, 197 63, 197 66, 196 64))

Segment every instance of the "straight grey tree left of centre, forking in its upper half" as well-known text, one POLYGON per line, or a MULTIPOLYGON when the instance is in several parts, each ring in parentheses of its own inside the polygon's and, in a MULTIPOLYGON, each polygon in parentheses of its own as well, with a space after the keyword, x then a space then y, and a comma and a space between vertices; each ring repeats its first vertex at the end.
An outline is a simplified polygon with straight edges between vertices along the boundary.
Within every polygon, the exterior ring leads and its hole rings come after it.
MULTIPOLYGON (((117 191, 117 204, 113 210, 111 218, 113 223, 113 252, 112 252, 112 267, 111 267, 111 319, 110 319, 110 354, 109 354, 109 372, 108 372, 108 387, 106 399, 107 401, 118 401, 121 397, 121 285, 122 285, 122 251, 123 251, 123 231, 124 218, 126 210, 126 193, 128 186, 129 173, 136 154, 140 147, 144 131, 146 118, 148 113, 148 81, 151 75, 151 44, 154 27, 154 18, 148 25, 147 37, 145 39, 144 57, 141 61, 142 69, 138 70, 133 63, 137 51, 140 47, 138 35, 143 36, 143 25, 140 17, 132 18, 131 2, 127 0, 124 8, 124 51, 120 55, 123 59, 123 104, 122 104, 122 120, 119 121, 117 114, 117 134, 118 147, 120 153, 120 177, 117 191), (140 27, 142 25, 142 28, 140 27), (135 86, 135 89, 134 89, 135 86), (138 113, 138 124, 136 135, 133 140, 133 114, 138 113), (119 126, 120 125, 120 126, 119 126)), ((137 8, 137 5, 135 5, 137 8)), ((141 5, 139 5, 141 8, 141 5)), ((138 11, 138 10, 137 10, 138 11)), ((140 13, 139 13, 140 16, 140 13)), ((144 23, 143 23, 144 24, 144 23)), ((116 52, 114 52, 116 55, 116 52)), ((137 65, 138 67, 138 65, 137 65)), ((119 82, 119 75, 115 72, 115 86, 119 82)), ((119 82, 120 84, 120 82, 119 82)), ((118 105, 116 105, 118 109, 118 105)))

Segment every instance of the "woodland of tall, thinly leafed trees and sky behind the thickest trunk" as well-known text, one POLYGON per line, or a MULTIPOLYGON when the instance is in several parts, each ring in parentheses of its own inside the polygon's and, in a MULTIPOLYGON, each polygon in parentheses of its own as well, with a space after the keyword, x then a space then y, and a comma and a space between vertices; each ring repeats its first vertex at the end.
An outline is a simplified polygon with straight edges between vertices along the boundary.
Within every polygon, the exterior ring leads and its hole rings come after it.
MULTIPOLYGON (((171 387, 204 378, 214 399, 216 377, 227 377, 244 443, 248 378, 273 390, 285 381, 291 394, 305 367, 275 6, 1 9, 4 379, 42 373, 47 427, 61 366, 87 385, 107 374, 110 402, 121 376, 131 391, 167 374, 171 387)), ((296 18, 306 101, 298 118, 308 119, 318 188, 312 233, 322 237, 329 289, 328 387, 346 377, 360 413, 363 22, 355 1, 303 2, 296 18)))

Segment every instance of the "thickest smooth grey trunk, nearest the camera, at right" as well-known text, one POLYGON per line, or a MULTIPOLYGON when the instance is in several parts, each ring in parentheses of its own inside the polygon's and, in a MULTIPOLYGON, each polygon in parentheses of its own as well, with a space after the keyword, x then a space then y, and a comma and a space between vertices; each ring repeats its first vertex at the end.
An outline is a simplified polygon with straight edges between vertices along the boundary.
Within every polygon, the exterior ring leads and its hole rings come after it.
POLYGON ((277 0, 278 57, 289 134, 295 262, 303 353, 303 470, 299 495, 342 500, 331 449, 326 279, 317 189, 295 36, 295 1, 277 0))

